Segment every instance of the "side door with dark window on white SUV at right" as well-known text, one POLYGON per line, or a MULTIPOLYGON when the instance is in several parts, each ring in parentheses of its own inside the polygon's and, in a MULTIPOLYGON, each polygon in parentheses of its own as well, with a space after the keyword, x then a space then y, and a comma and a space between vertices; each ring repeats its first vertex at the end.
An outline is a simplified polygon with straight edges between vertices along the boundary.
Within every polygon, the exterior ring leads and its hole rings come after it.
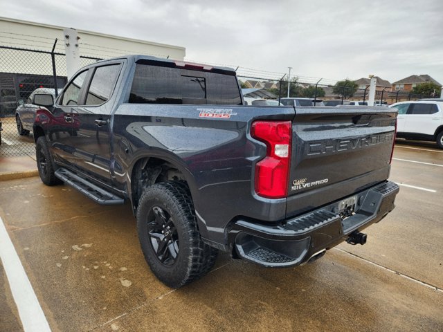
POLYGON ((434 103, 410 104, 406 114, 404 131, 406 133, 422 133, 433 135, 441 124, 442 110, 434 103))

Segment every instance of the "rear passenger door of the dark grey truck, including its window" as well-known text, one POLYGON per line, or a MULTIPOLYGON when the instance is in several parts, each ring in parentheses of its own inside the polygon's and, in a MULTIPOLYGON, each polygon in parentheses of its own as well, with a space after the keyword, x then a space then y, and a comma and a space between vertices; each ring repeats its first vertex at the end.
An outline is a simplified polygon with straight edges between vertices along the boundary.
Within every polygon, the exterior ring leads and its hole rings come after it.
POLYGON ((91 79, 82 93, 82 105, 73 110, 75 166, 105 182, 111 178, 109 120, 112 104, 109 99, 121 67, 121 62, 115 62, 91 68, 91 79))

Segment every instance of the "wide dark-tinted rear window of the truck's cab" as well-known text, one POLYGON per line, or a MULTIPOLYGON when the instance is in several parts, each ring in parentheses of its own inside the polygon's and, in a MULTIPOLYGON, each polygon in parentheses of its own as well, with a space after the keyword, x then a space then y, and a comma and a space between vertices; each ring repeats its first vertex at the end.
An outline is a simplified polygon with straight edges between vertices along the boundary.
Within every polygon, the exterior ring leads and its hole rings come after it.
POLYGON ((129 102, 241 104, 235 76, 137 64, 129 102))

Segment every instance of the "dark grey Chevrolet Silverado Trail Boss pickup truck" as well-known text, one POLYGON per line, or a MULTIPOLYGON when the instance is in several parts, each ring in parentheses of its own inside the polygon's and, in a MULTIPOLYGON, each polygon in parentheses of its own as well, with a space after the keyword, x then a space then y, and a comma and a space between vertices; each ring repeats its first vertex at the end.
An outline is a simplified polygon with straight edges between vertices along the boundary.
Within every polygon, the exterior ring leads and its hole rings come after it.
POLYGON ((244 105, 235 71, 131 55, 35 95, 43 183, 103 205, 128 201, 147 264, 180 287, 219 250, 305 264, 393 208, 397 110, 244 105))

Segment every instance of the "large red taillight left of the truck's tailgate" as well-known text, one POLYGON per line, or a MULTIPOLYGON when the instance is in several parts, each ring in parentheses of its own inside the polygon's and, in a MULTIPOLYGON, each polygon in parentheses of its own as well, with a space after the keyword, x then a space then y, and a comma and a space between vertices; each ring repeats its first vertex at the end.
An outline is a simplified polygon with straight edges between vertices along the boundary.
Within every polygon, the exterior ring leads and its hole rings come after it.
POLYGON ((269 199, 287 196, 291 160, 291 121, 255 121, 251 136, 266 144, 266 157, 255 165, 255 192, 269 199))

